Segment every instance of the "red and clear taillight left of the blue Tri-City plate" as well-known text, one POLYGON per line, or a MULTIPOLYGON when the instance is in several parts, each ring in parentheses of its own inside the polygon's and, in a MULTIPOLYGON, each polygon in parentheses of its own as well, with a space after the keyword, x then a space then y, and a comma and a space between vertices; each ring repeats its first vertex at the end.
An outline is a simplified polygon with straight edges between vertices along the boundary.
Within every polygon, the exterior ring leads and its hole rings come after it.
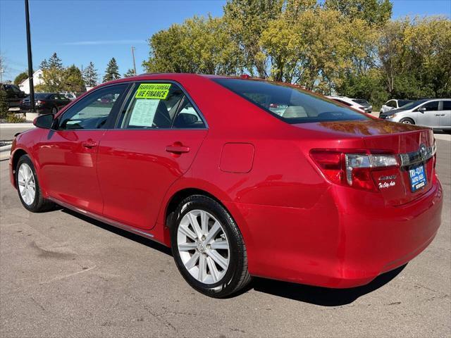
POLYGON ((378 191, 371 172, 398 165, 393 154, 371 154, 369 151, 314 149, 310 156, 326 178, 335 184, 378 191))

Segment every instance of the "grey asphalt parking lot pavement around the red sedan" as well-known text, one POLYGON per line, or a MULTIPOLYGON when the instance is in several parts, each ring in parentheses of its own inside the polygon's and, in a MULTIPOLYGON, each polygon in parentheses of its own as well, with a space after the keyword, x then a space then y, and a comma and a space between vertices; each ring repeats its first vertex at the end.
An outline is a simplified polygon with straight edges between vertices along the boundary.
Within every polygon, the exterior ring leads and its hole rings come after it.
POLYGON ((414 261, 355 289, 256 279, 223 300, 194 292, 159 244, 28 213, 1 161, 0 337, 450 337, 451 142, 437 142, 443 223, 414 261))

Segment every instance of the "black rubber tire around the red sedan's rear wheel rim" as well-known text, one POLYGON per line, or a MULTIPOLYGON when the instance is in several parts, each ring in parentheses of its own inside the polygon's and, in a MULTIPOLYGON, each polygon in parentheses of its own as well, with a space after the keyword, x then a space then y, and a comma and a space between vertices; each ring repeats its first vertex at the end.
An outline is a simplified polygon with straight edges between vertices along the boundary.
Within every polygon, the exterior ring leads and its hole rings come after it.
POLYGON ((178 270, 188 284, 206 296, 224 298, 245 287, 251 280, 247 270, 247 252, 240 230, 228 211, 217 201, 203 195, 192 195, 180 203, 171 225, 171 249, 178 270), (194 278, 185 268, 177 244, 178 227, 183 216, 193 210, 210 213, 221 223, 230 246, 229 264, 225 275, 214 284, 205 284, 194 278))

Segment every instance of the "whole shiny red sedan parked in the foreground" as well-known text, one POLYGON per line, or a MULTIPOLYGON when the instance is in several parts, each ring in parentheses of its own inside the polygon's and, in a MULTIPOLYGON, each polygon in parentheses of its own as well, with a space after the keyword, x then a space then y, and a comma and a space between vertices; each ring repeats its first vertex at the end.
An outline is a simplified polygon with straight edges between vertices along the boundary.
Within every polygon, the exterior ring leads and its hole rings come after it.
POLYGON ((209 296, 251 276, 366 284, 412 260, 440 225, 430 129, 288 84, 140 75, 35 125, 10 160, 27 210, 59 204, 171 246, 209 296))

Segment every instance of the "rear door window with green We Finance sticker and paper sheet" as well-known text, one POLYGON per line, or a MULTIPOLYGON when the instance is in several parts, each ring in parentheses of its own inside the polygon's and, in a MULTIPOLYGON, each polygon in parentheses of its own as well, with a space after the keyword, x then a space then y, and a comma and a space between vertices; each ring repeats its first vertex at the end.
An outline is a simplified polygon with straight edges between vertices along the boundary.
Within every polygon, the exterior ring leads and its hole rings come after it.
POLYGON ((169 129, 185 94, 177 84, 136 84, 121 112, 121 129, 169 129))

